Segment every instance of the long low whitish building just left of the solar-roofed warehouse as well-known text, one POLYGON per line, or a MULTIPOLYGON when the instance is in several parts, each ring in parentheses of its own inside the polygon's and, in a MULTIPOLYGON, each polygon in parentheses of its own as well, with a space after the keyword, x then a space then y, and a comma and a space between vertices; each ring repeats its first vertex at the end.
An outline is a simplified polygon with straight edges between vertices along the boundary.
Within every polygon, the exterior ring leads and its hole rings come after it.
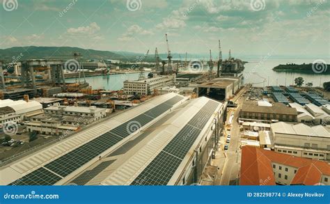
POLYGON ((60 116, 91 117, 92 121, 106 116, 106 109, 91 107, 68 107, 55 103, 54 106, 44 109, 46 114, 60 116))

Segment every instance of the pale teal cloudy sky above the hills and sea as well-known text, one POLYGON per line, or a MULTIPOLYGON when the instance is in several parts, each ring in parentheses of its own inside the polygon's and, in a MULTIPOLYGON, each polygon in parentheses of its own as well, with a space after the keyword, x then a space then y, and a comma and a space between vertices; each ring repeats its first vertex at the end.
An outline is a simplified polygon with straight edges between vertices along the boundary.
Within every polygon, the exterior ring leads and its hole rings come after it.
POLYGON ((0 49, 330 56, 330 0, 0 0, 0 49))

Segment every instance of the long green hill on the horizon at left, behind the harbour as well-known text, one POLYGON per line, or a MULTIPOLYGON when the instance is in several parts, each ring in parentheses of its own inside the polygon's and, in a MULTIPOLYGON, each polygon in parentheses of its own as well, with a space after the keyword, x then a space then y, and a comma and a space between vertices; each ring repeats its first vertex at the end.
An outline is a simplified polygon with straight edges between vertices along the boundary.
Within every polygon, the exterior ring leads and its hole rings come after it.
POLYGON ((122 61, 134 60, 139 54, 119 54, 109 51, 100 51, 95 49, 81 49, 79 47, 11 47, 0 49, 0 60, 12 61, 13 57, 17 57, 22 53, 22 60, 52 58, 52 59, 68 59, 72 58, 74 52, 80 53, 85 59, 119 59, 122 61))

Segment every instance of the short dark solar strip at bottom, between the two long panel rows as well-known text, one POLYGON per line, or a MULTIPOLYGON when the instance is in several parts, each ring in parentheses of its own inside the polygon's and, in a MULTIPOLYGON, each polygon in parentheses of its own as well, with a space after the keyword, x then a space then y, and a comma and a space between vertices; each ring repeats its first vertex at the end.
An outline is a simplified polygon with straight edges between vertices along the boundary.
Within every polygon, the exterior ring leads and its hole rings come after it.
POLYGON ((110 164, 115 162, 116 160, 109 160, 106 162, 102 162, 101 164, 95 166, 90 171, 85 171, 84 173, 81 173, 77 178, 72 180, 72 184, 76 185, 85 185, 88 181, 90 181, 92 178, 94 178, 97 174, 101 173, 105 168, 107 168, 110 164))

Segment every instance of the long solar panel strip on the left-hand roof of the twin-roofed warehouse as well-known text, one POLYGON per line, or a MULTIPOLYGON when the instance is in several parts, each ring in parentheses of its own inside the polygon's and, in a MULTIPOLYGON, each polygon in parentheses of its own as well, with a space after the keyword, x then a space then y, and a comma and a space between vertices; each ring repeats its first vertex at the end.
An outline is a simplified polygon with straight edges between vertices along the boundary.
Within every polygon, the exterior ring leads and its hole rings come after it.
MULTIPOLYGON (((129 134, 132 134, 132 132, 127 131, 127 125, 129 125, 129 123, 139 123, 142 127, 154 119, 152 116, 157 117, 161 115, 182 99, 182 96, 177 95, 169 100, 166 100, 166 102, 163 102, 162 104, 159 104, 156 107, 141 113, 139 116, 132 118, 131 120, 123 123, 122 125, 119 125, 113 130, 110 130, 109 132, 98 136, 92 141, 85 143, 83 146, 80 146, 79 148, 76 148, 63 156, 58 157, 49 164, 46 164, 45 168, 41 168, 41 170, 39 168, 38 170, 29 173, 25 176, 26 180, 33 180, 36 177, 42 178, 42 174, 45 174, 45 171, 47 171, 46 168, 58 175, 61 175, 62 177, 69 175, 73 171, 77 170, 77 168, 83 166, 87 162, 91 161, 91 159, 99 156, 102 152, 111 148, 111 146, 114 146, 125 137, 129 136, 129 134), (164 107, 167 107, 167 109, 164 107)), ((54 185, 56 182, 58 182, 58 178, 61 180, 61 178, 54 173, 47 171, 47 174, 49 174, 47 185, 54 185)), ((29 182, 19 182, 19 180, 17 180, 16 185, 26 185, 26 183, 29 182)), ((33 182, 32 185, 45 185, 45 182, 43 180, 38 180, 38 182, 33 182)))

